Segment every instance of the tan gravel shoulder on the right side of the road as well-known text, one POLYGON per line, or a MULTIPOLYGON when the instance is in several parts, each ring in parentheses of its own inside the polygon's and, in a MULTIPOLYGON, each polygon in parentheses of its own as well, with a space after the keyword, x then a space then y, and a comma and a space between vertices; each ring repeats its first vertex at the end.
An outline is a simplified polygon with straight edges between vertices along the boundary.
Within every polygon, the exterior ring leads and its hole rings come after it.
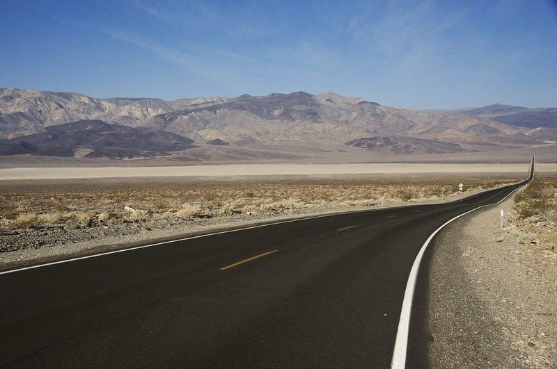
MULTIPOLYGON (((441 231, 430 265, 433 368, 557 368, 555 224, 517 229, 512 198, 441 231), (534 228, 534 229, 533 229, 534 228)), ((524 225, 524 224, 523 224, 524 225)))

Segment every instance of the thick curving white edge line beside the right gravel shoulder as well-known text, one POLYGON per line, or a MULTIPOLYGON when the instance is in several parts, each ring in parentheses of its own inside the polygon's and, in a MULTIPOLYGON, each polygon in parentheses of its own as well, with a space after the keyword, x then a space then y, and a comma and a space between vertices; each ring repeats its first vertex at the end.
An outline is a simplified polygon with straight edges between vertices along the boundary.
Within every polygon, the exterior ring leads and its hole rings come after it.
MULTIPOLYGON (((516 190, 518 190, 518 188, 516 190)), ((425 249, 427 249, 427 245, 430 244, 431 240, 434 238, 434 236, 439 231, 441 231, 441 229, 443 229, 450 222, 453 222, 453 220, 455 220, 457 218, 460 218, 463 215, 466 215, 466 214, 471 213, 473 211, 476 211, 479 208, 484 208, 485 206, 493 206, 493 205, 496 205, 496 204, 500 204, 505 199, 507 199, 507 197, 512 195, 516 190, 511 191, 507 196, 505 196, 505 197, 503 197, 503 199, 499 200, 499 202, 496 202, 494 204, 487 204, 487 205, 478 206, 477 208, 473 208, 470 211, 466 211, 466 213, 462 213, 460 215, 457 215, 455 218, 453 218, 451 220, 448 220, 445 224, 443 224, 441 227, 436 229, 433 233, 431 233, 431 235, 427 238, 427 240, 425 240, 425 243, 423 244, 422 248, 420 249, 420 252, 418 252, 418 255, 416 256, 416 259, 414 260, 414 264, 412 264, 412 268, 411 268, 410 274, 408 276, 408 281, 407 281, 406 290, 405 290, 405 297, 404 297, 404 300, 402 300, 402 310, 400 311, 400 320, 398 320, 398 329, 397 329, 397 332, 396 332, 395 349, 393 351, 393 359, 391 361, 391 369, 402 369, 402 368, 405 368, 405 366, 406 366, 406 351, 407 351, 407 346, 408 346, 408 333, 409 333, 409 327, 410 327, 410 313, 411 313, 411 309, 412 309, 412 300, 414 300, 414 290, 416 288, 416 280, 418 279, 418 270, 420 269, 420 263, 421 263, 423 254, 425 253, 425 249)))

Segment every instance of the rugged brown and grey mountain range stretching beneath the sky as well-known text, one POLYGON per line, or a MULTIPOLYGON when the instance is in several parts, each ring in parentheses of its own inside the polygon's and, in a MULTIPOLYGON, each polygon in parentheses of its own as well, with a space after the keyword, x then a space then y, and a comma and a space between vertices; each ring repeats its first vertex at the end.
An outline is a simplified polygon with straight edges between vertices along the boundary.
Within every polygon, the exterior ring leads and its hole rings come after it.
POLYGON ((2 88, 0 137, 0 155, 214 161, 312 151, 444 154, 555 141, 557 108, 414 110, 331 92, 164 101, 2 88))

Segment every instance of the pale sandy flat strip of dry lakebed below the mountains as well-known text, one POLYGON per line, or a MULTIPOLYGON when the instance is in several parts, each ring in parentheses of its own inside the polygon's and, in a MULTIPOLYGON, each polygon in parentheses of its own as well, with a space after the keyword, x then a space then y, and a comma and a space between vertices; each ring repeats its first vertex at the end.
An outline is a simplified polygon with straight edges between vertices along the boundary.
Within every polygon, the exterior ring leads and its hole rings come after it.
MULTIPOLYGON (((35 167, 0 169, 0 180, 86 179, 131 177, 230 177, 262 175, 322 174, 414 174, 414 173, 509 173, 525 175, 529 164, 443 164, 443 163, 369 163, 369 164, 237 164, 183 167, 35 167)), ((536 172, 557 172, 557 163, 538 164, 536 172)))

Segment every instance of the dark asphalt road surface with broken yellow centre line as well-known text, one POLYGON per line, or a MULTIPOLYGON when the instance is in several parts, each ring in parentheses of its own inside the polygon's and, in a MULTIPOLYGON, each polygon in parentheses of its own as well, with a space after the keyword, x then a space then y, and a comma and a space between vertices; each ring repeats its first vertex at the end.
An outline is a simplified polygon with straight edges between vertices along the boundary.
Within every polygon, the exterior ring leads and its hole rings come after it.
POLYGON ((515 187, 0 274, 0 366, 389 368, 424 241, 515 187))

